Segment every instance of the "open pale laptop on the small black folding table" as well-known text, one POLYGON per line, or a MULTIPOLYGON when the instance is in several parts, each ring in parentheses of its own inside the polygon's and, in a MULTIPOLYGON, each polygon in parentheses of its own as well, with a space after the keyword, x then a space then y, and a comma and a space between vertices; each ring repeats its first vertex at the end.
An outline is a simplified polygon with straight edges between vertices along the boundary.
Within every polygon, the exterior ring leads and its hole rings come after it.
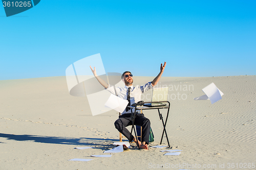
MULTIPOLYGON (((167 101, 168 87, 154 88, 152 91, 152 102, 167 101)), ((166 103, 145 103, 146 107, 165 106, 166 103)))

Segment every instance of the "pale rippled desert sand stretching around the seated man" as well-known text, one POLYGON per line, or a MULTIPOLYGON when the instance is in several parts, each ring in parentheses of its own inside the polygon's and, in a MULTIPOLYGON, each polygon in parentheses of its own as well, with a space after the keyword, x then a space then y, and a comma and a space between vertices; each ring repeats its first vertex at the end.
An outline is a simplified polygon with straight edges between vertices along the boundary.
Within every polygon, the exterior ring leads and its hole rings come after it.
MULTIPOLYGON (((134 77, 134 84, 152 80, 134 77)), ((166 85, 171 103, 167 134, 181 154, 164 156, 160 151, 167 147, 137 150, 132 143, 130 151, 95 158, 90 156, 104 155, 119 141, 116 111, 92 116, 86 97, 69 94, 65 77, 0 81, 0 169, 256 169, 256 76, 162 77, 158 87, 166 85), (212 82, 223 99, 195 101, 212 82), (69 161, 73 158, 93 160, 69 161)), ((154 110, 144 114, 155 135, 149 146, 158 145, 159 116, 154 110)))

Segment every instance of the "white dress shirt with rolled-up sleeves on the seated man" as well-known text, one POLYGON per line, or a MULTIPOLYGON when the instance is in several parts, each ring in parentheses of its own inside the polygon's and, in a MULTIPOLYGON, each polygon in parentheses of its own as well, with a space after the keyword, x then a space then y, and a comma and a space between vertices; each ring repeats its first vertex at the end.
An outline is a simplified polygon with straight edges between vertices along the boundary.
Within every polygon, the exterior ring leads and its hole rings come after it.
MULTIPOLYGON (((143 92, 153 88, 152 82, 148 82, 143 86, 137 85, 134 87, 132 85, 130 87, 131 87, 131 94, 130 94, 131 105, 141 101, 141 94, 143 92)), ((117 96, 119 98, 127 100, 128 88, 129 88, 129 86, 116 87, 116 92, 115 92, 114 86, 109 85, 109 87, 106 88, 106 90, 108 90, 109 92, 111 92, 114 95, 116 95, 116 93, 117 93, 117 96)), ((133 110, 133 112, 134 112, 134 110, 133 110)), ((122 114, 125 114, 125 113, 131 113, 131 110, 128 110, 127 112, 124 110, 122 112, 122 114)))

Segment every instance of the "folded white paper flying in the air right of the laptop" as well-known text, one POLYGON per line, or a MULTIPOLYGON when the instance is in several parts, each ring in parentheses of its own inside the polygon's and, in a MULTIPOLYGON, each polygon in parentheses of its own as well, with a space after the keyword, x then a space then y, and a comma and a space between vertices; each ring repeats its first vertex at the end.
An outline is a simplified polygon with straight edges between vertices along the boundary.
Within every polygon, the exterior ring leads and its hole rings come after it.
POLYGON ((194 98, 194 100, 210 100, 211 104, 214 104, 215 102, 221 100, 221 96, 224 94, 214 83, 209 84, 202 90, 205 95, 194 98))

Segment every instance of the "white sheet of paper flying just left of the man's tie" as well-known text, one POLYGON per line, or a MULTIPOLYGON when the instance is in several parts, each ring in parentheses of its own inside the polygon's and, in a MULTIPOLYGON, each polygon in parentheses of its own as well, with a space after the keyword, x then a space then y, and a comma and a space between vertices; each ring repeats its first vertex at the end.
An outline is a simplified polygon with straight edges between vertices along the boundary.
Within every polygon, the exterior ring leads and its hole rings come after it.
POLYGON ((111 94, 108 101, 106 101, 105 106, 122 113, 128 103, 129 102, 127 100, 121 99, 118 96, 111 94))

